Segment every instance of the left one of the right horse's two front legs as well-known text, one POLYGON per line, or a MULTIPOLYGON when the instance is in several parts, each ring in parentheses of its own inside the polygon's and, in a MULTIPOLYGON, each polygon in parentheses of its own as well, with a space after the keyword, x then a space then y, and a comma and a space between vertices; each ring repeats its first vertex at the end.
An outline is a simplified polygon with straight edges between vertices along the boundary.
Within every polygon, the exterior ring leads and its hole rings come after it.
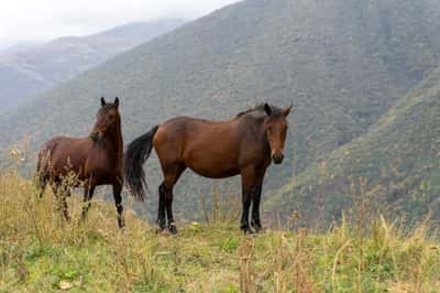
POLYGON ((240 223, 240 229, 244 234, 253 234, 249 225, 249 211, 251 208, 251 203, 256 192, 257 183, 255 178, 255 169, 246 167, 241 171, 241 184, 242 184, 242 216, 240 223))

